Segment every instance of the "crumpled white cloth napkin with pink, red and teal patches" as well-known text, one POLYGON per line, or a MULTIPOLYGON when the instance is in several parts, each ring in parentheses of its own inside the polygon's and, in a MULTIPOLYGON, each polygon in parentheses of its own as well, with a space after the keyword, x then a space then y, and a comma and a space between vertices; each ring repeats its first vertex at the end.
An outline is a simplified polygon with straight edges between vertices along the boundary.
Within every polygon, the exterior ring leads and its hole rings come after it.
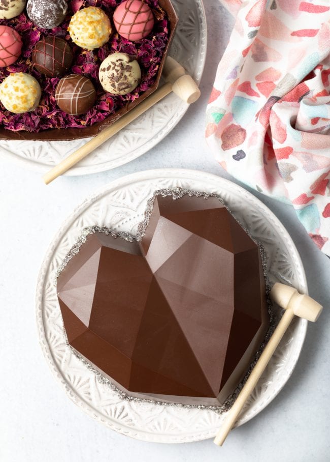
POLYGON ((329 2, 220 1, 236 23, 207 109, 207 142, 230 174, 293 204, 330 255, 329 2))

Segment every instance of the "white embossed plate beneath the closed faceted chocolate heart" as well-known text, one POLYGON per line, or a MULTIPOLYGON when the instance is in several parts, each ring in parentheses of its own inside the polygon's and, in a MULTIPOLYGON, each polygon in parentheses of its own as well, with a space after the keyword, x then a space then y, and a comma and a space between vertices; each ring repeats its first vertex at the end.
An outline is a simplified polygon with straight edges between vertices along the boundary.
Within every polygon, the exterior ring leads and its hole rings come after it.
MULTIPOLYGON (((110 183, 87 198, 60 227, 42 264, 37 285, 37 323, 42 350, 69 397, 88 415, 124 435, 145 441, 182 443, 214 437, 223 421, 213 411, 123 401, 98 382, 65 342, 56 296, 56 270, 85 226, 137 231, 147 200, 157 189, 180 186, 220 195, 268 254, 271 282, 289 283, 307 293, 304 269, 294 244, 278 219, 252 194, 215 175, 183 169, 139 172, 110 183)), ((247 402, 238 425, 247 422, 277 395, 298 360, 307 321, 295 319, 247 402)))

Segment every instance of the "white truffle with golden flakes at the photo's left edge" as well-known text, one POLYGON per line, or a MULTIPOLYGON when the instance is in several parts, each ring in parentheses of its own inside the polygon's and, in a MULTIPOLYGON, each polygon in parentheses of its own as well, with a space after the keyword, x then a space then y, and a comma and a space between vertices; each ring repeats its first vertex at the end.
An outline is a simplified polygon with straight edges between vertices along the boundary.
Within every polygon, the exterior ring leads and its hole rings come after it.
POLYGON ((29 112, 39 105, 41 88, 35 77, 24 72, 10 74, 0 85, 0 101, 15 114, 29 112))

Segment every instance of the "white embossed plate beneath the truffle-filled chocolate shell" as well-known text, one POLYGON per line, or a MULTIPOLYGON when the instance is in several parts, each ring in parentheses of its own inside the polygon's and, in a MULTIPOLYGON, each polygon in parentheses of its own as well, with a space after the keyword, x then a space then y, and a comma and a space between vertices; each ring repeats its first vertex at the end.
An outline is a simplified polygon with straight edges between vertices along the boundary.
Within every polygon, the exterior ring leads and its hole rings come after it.
MULTIPOLYGON (((202 0, 172 0, 179 23, 170 49, 199 83, 205 65, 207 32, 202 0)), ((111 140, 96 149, 65 175, 88 175, 110 170, 136 159, 167 136, 189 105, 173 93, 155 104, 111 140)), ((45 172, 76 151, 88 138, 72 141, 0 141, 0 154, 26 168, 45 172)))

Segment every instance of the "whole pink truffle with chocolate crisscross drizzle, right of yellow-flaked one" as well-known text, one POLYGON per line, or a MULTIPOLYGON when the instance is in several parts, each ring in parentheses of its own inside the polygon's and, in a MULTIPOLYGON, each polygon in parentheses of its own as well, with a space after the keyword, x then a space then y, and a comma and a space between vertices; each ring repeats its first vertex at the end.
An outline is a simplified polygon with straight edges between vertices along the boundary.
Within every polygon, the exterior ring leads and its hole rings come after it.
POLYGON ((113 21, 121 37, 137 42, 150 34, 154 25, 151 9, 140 0, 126 0, 115 10, 113 21))

